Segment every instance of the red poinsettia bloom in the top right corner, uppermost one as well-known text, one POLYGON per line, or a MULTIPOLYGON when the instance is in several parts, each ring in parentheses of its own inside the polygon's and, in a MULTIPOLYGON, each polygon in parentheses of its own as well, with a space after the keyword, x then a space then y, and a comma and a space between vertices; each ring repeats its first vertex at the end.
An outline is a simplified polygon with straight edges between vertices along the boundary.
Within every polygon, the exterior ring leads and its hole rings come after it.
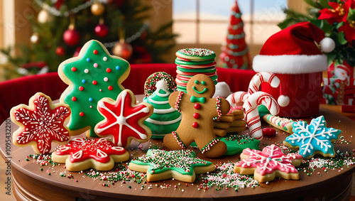
POLYGON ((322 9, 320 11, 320 17, 318 19, 327 20, 328 23, 334 24, 339 22, 346 22, 346 18, 349 13, 349 9, 354 9, 355 1, 354 0, 343 0, 338 4, 337 2, 329 2, 329 6, 332 9, 322 9))

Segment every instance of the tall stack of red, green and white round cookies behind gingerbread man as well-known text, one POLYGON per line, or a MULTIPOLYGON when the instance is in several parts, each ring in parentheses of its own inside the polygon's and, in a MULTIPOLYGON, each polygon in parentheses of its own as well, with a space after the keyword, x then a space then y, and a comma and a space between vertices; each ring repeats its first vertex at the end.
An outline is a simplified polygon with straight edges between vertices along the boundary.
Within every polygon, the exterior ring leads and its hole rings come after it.
POLYGON ((186 92, 186 85, 190 78, 197 74, 209 76, 214 85, 217 84, 217 69, 215 67, 216 54, 204 48, 186 48, 175 53, 177 65, 176 84, 178 91, 186 92))

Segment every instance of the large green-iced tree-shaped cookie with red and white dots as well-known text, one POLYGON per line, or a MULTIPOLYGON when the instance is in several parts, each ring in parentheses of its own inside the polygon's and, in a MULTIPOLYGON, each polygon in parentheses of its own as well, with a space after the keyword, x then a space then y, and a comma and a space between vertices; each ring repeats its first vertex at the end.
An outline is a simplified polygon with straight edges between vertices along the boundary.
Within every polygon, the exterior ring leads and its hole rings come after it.
POLYGON ((129 63, 109 55, 97 40, 85 43, 77 58, 60 64, 60 78, 69 85, 60 102, 72 109, 68 127, 74 134, 89 130, 88 136, 96 136, 94 126, 104 119, 97 111, 97 102, 104 97, 115 99, 124 89, 121 83, 129 72, 129 63))

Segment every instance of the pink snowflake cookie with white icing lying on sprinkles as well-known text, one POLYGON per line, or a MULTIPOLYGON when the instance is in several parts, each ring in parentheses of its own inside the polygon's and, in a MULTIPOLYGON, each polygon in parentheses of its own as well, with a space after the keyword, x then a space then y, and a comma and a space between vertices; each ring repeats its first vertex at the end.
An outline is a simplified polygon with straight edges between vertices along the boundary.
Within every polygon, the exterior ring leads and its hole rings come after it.
POLYGON ((295 166, 300 165, 302 156, 297 153, 283 153, 281 148, 272 144, 263 151, 244 149, 241 161, 234 165, 234 173, 254 175, 259 183, 274 180, 275 177, 298 180, 299 175, 295 166))

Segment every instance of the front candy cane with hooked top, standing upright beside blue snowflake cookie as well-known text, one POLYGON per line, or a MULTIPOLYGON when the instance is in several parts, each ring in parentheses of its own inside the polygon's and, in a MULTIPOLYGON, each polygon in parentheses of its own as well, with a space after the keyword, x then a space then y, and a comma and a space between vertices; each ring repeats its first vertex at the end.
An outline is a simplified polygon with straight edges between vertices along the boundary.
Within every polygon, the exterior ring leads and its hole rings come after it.
POLYGON ((251 136, 258 140, 263 138, 263 131, 261 131, 261 121, 258 112, 258 105, 261 104, 266 106, 273 115, 280 112, 280 107, 271 94, 266 92, 255 92, 246 98, 246 102, 243 104, 246 123, 249 126, 251 136))

